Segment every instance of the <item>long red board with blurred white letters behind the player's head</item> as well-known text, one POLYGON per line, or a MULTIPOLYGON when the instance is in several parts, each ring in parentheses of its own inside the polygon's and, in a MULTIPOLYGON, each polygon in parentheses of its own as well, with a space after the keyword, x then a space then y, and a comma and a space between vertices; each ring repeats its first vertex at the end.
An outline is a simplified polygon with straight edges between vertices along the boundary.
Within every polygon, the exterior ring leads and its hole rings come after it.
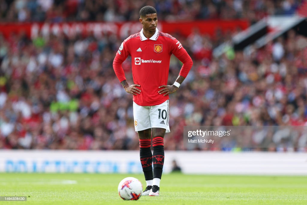
MULTIPOLYGON (((242 30, 249 26, 245 20, 205 20, 184 22, 159 22, 158 29, 169 34, 179 33, 188 36, 192 30, 197 28, 200 33, 214 35, 217 29, 232 31, 238 27, 242 30)), ((115 34, 122 39, 131 34, 138 33, 142 29, 139 22, 68 22, 68 23, 0 23, 0 32, 8 37, 12 33, 24 32, 28 37, 35 38, 38 35, 75 35, 93 33, 98 36, 115 34)))

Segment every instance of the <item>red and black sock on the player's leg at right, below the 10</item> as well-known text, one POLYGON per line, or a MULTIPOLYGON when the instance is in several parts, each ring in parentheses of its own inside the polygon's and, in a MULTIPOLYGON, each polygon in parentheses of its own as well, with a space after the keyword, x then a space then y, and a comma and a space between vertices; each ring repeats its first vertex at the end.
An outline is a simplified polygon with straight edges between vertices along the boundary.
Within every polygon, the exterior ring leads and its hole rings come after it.
POLYGON ((161 179, 164 164, 163 137, 153 138, 153 178, 161 179))

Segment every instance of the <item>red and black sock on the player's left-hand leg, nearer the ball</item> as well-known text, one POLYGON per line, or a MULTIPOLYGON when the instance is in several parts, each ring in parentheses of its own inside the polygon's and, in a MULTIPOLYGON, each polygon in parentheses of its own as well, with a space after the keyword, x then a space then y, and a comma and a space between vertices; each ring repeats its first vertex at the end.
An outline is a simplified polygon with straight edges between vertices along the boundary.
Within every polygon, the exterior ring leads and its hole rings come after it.
POLYGON ((151 139, 139 140, 140 142, 140 160, 142 164, 142 169, 144 172, 145 180, 153 179, 153 154, 151 153, 151 139))

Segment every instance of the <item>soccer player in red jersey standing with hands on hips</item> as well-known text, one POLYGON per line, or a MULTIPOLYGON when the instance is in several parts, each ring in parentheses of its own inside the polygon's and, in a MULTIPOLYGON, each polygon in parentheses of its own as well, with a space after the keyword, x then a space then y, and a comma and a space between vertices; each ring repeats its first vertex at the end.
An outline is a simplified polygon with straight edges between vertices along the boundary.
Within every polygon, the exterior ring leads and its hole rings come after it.
POLYGON ((143 29, 122 42, 113 68, 126 92, 133 94, 134 127, 138 132, 140 160, 147 186, 142 195, 159 196, 164 163, 163 138, 165 132, 170 132, 169 94, 177 91, 193 62, 176 38, 157 29, 155 8, 144 6, 139 21, 143 29), (167 85, 172 54, 183 65, 174 84, 167 85), (132 58, 133 85, 128 84, 122 69, 122 62, 128 55, 132 58))

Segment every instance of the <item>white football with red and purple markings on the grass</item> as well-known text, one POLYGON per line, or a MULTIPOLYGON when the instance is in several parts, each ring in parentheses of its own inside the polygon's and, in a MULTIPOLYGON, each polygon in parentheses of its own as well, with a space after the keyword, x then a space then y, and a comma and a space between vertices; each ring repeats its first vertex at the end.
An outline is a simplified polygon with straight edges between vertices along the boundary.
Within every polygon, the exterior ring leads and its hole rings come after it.
POLYGON ((126 177, 118 185, 118 194, 123 200, 138 200, 142 191, 142 183, 134 177, 126 177))

